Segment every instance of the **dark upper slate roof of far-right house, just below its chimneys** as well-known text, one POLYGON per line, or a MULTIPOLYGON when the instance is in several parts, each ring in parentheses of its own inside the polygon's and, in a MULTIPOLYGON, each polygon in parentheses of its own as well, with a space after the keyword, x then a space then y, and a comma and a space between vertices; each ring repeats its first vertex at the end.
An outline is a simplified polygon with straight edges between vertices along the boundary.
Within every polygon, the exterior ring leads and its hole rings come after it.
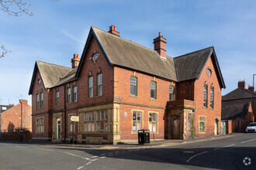
MULTIPOLYGON (((222 100, 236 100, 236 99, 245 99, 245 98, 251 98, 252 92, 247 89, 241 89, 237 88, 230 93, 227 93, 222 97, 222 100)), ((254 97, 256 97, 256 93, 254 93, 254 97)))

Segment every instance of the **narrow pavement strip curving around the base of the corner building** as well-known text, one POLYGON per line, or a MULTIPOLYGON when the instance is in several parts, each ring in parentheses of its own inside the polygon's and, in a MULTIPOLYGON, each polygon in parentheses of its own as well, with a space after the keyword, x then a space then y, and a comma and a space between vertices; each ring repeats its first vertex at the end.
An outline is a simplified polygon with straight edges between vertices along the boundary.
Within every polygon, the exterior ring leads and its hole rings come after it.
POLYGON ((239 135, 239 133, 232 134, 220 134, 216 136, 206 136, 202 138, 194 138, 187 140, 174 140, 174 139, 165 139, 162 141, 150 141, 148 144, 139 145, 138 143, 126 143, 126 144, 118 144, 118 145, 80 145, 80 144, 64 144, 64 143, 47 143, 46 145, 55 145, 61 147, 71 147, 71 148, 93 148, 93 149, 139 149, 139 148, 161 148, 171 145, 182 145, 187 143, 199 142, 199 141, 211 141, 221 138, 230 138, 235 135, 239 135))

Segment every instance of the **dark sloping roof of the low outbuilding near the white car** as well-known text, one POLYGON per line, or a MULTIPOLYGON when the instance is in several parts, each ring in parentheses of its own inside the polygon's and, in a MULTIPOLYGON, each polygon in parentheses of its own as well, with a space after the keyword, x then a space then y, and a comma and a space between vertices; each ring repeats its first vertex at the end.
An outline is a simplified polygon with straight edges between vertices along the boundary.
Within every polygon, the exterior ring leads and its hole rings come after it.
POLYGON ((221 120, 234 120, 237 117, 244 118, 248 113, 248 108, 251 102, 246 104, 230 104, 222 105, 221 120))

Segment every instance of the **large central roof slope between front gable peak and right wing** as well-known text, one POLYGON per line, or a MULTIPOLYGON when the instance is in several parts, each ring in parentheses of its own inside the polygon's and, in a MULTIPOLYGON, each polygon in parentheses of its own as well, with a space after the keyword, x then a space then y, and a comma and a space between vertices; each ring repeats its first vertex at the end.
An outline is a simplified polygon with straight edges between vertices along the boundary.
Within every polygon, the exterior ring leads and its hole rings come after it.
POLYGON ((171 57, 161 59, 154 49, 141 46, 93 26, 92 31, 112 65, 177 81, 175 65, 171 57))

